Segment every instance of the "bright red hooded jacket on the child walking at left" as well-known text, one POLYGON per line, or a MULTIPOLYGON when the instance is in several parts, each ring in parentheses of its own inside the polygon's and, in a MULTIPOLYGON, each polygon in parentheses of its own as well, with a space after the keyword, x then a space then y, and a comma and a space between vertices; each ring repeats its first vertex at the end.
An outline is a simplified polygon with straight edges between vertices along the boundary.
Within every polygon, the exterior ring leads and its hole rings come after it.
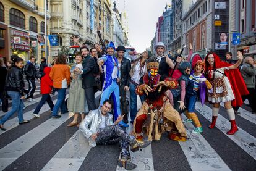
POLYGON ((49 94, 51 93, 51 88, 53 87, 53 80, 51 80, 49 77, 51 67, 45 67, 43 72, 45 75, 41 78, 41 94, 49 94))

